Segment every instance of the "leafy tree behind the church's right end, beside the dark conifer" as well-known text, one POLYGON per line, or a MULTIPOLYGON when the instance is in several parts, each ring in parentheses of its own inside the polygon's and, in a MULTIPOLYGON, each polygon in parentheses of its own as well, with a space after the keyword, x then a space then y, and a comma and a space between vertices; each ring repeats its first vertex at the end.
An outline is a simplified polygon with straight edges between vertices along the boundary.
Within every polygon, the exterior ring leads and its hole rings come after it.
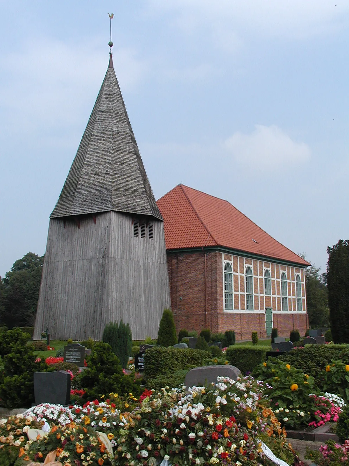
MULTIPOLYGON (((307 260, 305 254, 301 254, 307 260)), ((305 290, 307 295, 307 312, 310 327, 326 327, 329 325, 328 290, 324 282, 324 275, 320 275, 320 267, 311 264, 304 271, 305 290)))

